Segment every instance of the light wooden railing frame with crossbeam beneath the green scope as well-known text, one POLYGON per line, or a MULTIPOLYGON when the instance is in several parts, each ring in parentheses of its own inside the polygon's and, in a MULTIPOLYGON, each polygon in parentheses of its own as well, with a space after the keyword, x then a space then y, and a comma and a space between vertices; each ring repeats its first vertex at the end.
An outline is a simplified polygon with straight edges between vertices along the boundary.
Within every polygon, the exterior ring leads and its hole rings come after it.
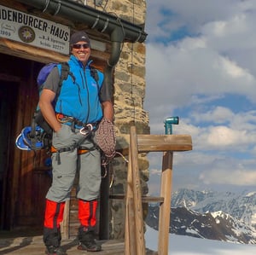
POLYGON ((158 254, 167 255, 172 194, 173 152, 192 149, 191 136, 137 135, 131 126, 127 190, 125 194, 125 255, 146 254, 143 223, 143 202, 160 202, 158 254), (160 197, 142 198, 138 154, 163 152, 160 197))

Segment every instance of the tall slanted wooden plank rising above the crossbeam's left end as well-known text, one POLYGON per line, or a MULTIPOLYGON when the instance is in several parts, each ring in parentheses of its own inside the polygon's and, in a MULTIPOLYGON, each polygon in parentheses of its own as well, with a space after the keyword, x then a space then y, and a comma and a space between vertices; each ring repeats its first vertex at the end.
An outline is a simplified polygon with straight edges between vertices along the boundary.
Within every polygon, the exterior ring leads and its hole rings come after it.
POLYGON ((142 188, 138 168, 138 145, 136 127, 131 126, 130 133, 131 148, 131 170, 132 170, 132 191, 134 201, 135 215, 135 236, 136 236, 136 254, 145 254, 144 225, 143 225, 143 204, 142 204, 142 188))

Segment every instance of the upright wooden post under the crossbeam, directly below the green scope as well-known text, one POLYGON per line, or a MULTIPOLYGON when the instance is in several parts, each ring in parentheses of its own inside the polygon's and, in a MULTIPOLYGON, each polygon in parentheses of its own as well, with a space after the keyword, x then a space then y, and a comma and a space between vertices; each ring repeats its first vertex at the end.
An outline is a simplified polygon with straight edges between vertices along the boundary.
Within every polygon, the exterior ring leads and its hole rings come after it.
POLYGON ((172 152, 164 152, 162 160, 160 196, 164 197, 165 200, 164 203, 160 204, 158 234, 158 252, 160 255, 168 254, 172 195, 172 159, 172 152))

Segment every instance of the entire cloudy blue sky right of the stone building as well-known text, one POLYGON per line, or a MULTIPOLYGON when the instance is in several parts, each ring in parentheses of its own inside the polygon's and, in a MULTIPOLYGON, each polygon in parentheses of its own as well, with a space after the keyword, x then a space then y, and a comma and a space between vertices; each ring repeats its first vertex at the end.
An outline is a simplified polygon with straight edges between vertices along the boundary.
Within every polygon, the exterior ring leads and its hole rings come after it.
MULTIPOLYGON (((152 134, 192 136, 173 189, 256 189, 256 0, 147 0, 146 98, 152 134)), ((161 154, 149 154, 151 192, 161 154)), ((149 184, 150 185, 150 184, 149 184)), ((149 186, 150 188, 150 186, 149 186)))

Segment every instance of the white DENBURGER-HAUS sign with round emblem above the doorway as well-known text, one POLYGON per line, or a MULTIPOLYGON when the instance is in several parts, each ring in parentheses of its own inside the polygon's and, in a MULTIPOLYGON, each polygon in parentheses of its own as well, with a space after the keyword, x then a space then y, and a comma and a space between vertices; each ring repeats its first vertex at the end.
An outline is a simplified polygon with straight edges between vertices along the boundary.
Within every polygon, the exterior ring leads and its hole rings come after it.
POLYGON ((0 38, 69 53, 70 29, 53 21, 0 5, 0 38))

